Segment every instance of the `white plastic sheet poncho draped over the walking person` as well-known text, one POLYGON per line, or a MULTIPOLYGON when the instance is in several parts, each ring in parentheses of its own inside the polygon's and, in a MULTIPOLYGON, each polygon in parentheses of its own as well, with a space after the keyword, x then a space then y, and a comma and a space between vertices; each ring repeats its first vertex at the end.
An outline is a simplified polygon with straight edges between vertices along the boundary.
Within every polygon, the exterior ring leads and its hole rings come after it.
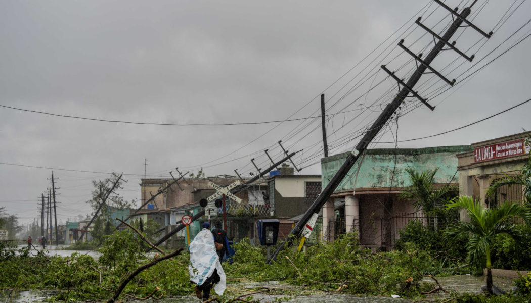
POLYGON ((202 285, 215 269, 218 270, 220 281, 214 286, 214 290, 221 296, 226 288, 225 272, 216 253, 212 232, 208 229, 203 229, 190 243, 190 265, 188 266, 190 280, 202 285))

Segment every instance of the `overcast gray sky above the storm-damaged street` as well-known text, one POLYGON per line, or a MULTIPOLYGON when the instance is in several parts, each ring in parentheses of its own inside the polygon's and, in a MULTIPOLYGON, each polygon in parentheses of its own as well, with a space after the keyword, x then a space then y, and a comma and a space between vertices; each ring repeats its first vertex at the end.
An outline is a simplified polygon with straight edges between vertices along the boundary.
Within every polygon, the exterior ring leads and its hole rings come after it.
MULTIPOLYGON (((472 1, 446 3, 461 10, 472 1)), ((409 98, 398 122, 393 120, 378 141, 395 141, 397 123, 399 141, 429 136, 531 98, 531 39, 467 77, 529 34, 530 6, 522 0, 479 0, 469 19, 486 32, 494 29, 492 38, 460 29, 456 46, 476 54, 474 61, 443 51, 432 65, 457 84, 449 88, 424 75, 416 89, 437 105, 435 111, 415 109, 418 100, 409 98)), ((339 153, 353 148, 359 132, 397 92, 380 65, 401 78, 415 67, 396 47, 397 39, 404 38, 415 53, 427 54, 433 46, 431 36, 414 23, 418 16, 436 32, 451 22, 448 11, 429 0, 3 1, 0 105, 128 122, 224 124, 313 117, 319 114, 314 98, 324 91, 327 113, 337 114, 328 116, 329 145, 332 154, 339 153)), ((531 128, 530 111, 531 102, 398 147, 470 144, 519 133, 531 128)), ((301 174, 319 174, 319 125, 318 118, 235 126, 135 125, 0 107, 0 206, 22 222, 38 218, 37 197, 49 187, 48 168, 54 168, 61 187, 58 220, 64 222, 90 212, 85 201, 91 180, 113 171, 128 174, 129 183, 118 192, 128 200, 139 198, 144 159, 149 176, 168 177, 175 167, 249 175, 251 158, 268 166, 264 149, 281 157, 279 140, 290 151, 304 149, 294 159, 306 167, 301 174)))

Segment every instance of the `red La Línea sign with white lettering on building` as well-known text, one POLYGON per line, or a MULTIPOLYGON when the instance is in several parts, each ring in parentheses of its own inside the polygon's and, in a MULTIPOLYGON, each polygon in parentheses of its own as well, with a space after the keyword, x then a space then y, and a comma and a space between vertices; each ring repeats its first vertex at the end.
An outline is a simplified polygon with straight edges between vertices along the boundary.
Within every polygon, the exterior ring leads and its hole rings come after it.
POLYGON ((530 146, 526 145, 525 141, 525 139, 518 139, 476 148, 474 149, 474 162, 513 157, 515 155, 529 153, 530 146))

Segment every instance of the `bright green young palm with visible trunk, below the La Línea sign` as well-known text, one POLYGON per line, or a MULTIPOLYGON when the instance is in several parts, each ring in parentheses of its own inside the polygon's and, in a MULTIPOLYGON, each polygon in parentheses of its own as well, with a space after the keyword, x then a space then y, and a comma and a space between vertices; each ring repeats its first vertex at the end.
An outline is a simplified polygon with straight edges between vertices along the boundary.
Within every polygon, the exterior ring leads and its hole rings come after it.
POLYGON ((450 224, 444 231, 448 239, 468 236, 467 250, 470 264, 486 265, 487 291, 492 294, 491 250, 496 235, 505 233, 518 240, 521 237, 516 224, 508 222, 513 217, 526 221, 531 218, 527 207, 516 203, 503 203, 497 209, 484 209, 473 197, 461 196, 446 204, 446 209, 464 209, 470 222, 450 224))

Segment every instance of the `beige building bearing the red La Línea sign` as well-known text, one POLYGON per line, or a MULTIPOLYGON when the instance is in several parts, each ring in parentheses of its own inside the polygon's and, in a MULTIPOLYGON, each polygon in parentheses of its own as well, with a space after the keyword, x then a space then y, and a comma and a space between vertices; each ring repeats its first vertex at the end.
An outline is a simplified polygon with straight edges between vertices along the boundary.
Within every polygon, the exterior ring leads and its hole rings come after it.
POLYGON ((523 201, 521 186, 506 186, 492 197, 486 196, 494 180, 517 174, 528 161, 531 146, 527 133, 520 133, 472 144, 472 150, 457 154, 460 194, 474 196, 484 207, 505 201, 523 201))

